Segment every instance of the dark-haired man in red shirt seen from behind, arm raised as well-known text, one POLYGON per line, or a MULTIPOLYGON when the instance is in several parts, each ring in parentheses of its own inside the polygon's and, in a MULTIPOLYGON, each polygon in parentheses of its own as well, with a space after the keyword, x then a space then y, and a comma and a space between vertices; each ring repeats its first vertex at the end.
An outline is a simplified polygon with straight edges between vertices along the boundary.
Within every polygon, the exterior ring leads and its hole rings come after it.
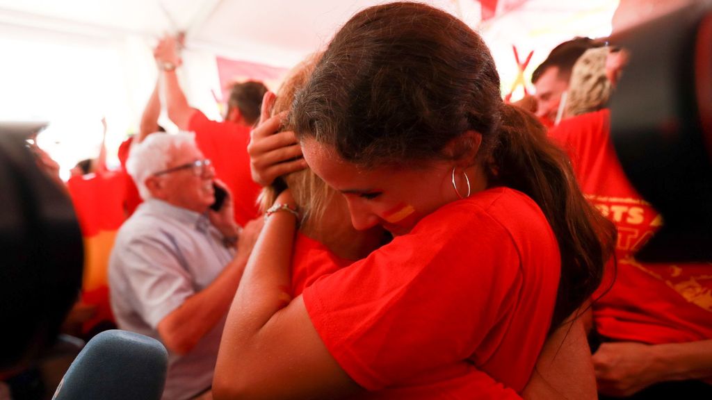
POLYGON ((251 127, 260 116, 267 88, 253 81, 234 85, 225 120, 209 120, 200 110, 190 107, 180 87, 176 75, 181 64, 177 45, 175 38, 166 36, 154 50, 168 117, 180 130, 195 132, 198 147, 211 159, 216 177, 224 181, 233 194, 235 221, 244 226, 259 214, 257 196, 261 187, 251 178, 247 144, 251 127))

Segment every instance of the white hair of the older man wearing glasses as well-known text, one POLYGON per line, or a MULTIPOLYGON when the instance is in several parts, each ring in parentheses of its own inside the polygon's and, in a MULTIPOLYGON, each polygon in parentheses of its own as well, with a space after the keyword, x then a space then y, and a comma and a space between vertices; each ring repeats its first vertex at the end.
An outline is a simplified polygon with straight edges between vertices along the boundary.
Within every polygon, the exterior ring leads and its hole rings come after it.
POLYGON ((126 160, 126 170, 138 187, 142 199, 152 197, 146 187, 146 179, 156 172, 167 169, 177 149, 185 145, 196 145, 193 133, 155 132, 148 135, 143 142, 131 147, 129 158, 126 160))

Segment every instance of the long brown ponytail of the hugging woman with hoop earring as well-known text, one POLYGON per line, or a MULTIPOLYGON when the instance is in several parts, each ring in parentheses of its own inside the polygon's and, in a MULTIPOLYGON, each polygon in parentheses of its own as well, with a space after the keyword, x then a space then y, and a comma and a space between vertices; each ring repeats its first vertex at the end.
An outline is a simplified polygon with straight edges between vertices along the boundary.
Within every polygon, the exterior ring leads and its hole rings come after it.
POLYGON ((530 112, 503 104, 498 141, 488 157, 491 184, 522 191, 543 211, 559 244, 561 278, 550 332, 601 283, 616 230, 583 196, 567 154, 530 112))

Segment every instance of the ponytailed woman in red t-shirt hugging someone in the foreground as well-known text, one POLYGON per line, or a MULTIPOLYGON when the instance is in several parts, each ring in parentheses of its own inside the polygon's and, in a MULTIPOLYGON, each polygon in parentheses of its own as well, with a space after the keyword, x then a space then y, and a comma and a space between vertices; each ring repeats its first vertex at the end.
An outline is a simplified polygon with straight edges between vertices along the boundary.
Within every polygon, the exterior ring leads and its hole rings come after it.
POLYGON ((599 285, 614 231, 543 127, 503 104, 482 39, 423 4, 361 11, 287 125, 353 226, 394 239, 293 298, 284 238, 299 216, 279 194, 226 322, 216 399, 518 398, 599 285))

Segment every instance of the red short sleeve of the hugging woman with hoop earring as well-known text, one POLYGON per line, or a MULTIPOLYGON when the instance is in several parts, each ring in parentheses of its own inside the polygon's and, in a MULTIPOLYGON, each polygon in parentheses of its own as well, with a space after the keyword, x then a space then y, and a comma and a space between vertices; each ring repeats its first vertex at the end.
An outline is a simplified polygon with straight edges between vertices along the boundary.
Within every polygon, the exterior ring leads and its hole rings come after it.
POLYGON ((316 330, 358 384, 379 390, 473 372, 466 360, 521 286, 511 237, 477 209, 445 206, 305 289, 316 330))

